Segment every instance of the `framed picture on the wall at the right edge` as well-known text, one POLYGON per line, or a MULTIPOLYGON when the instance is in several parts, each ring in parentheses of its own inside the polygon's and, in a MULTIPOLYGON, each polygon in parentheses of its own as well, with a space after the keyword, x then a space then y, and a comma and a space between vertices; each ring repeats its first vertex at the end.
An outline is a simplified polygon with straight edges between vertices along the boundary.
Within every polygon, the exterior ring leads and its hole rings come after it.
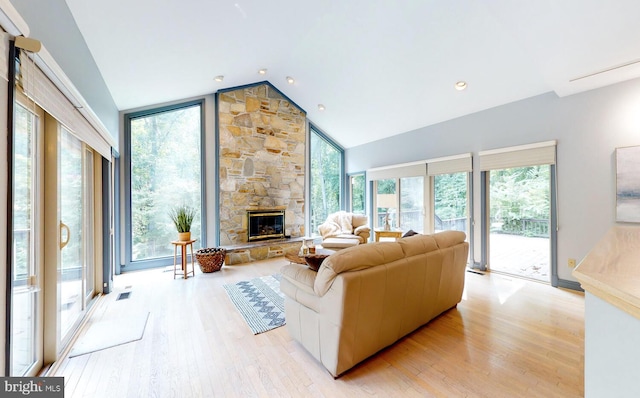
POLYGON ((616 148, 616 221, 640 222, 640 146, 616 148))

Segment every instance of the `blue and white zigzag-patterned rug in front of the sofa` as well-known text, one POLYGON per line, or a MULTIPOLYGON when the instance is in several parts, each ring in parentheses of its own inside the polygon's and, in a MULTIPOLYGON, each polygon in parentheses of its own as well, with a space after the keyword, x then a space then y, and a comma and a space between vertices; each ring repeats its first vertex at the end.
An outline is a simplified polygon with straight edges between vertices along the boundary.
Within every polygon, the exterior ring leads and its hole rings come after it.
POLYGON ((280 291, 282 275, 268 275, 224 285, 231 302, 249 325, 253 334, 285 324, 284 294, 280 291))

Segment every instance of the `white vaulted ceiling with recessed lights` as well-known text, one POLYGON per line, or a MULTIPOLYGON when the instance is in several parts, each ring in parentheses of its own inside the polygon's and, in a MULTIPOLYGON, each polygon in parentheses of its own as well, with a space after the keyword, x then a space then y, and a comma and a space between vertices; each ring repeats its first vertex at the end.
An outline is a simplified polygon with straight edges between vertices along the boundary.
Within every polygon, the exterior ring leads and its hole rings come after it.
POLYGON ((640 77, 638 0, 66 1, 120 110, 268 80, 345 148, 640 77))

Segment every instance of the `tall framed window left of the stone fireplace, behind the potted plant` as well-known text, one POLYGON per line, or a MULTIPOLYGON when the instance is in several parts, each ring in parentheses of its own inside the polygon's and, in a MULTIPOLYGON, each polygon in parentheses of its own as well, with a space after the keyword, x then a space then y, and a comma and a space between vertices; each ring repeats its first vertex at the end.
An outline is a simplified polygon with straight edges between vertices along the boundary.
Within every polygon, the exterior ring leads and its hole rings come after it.
POLYGON ((166 264, 177 232, 175 206, 195 209, 191 236, 203 240, 202 101, 125 116, 127 261, 124 270, 166 264))

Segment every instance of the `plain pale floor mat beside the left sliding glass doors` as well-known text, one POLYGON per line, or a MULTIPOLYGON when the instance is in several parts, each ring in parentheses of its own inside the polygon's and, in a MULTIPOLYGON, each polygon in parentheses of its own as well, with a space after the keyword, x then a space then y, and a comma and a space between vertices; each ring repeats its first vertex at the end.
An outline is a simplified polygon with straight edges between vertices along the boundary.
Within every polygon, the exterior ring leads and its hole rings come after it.
POLYGON ((148 319, 149 312, 145 312, 95 322, 73 345, 69 358, 138 341, 144 335, 148 319))

